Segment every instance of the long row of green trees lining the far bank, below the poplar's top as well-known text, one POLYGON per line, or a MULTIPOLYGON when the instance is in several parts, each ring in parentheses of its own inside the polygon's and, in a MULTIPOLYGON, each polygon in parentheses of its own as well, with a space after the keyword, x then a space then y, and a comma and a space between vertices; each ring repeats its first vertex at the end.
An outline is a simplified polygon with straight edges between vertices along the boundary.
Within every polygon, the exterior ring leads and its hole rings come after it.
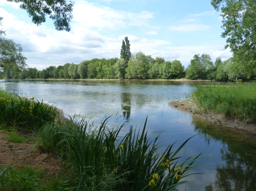
MULTIPOLYGON (((246 73, 238 72, 230 60, 218 57, 214 62, 209 54, 195 54, 185 69, 179 60, 165 61, 138 52, 129 61, 124 58, 91 59, 79 64, 65 63, 63 66, 50 66, 43 70, 27 68, 16 70, 6 68, 0 78, 6 79, 206 79, 235 80, 247 79, 246 73)), ((250 79, 255 79, 251 76, 250 79)))

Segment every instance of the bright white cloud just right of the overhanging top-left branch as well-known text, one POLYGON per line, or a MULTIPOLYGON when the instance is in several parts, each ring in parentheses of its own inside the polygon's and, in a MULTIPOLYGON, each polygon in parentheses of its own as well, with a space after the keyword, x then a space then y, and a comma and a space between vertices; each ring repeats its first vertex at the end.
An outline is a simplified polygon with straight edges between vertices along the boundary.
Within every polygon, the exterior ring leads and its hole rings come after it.
POLYGON ((74 5, 73 16, 73 21, 79 23, 81 27, 117 29, 129 26, 149 26, 148 23, 150 19, 154 18, 154 13, 116 11, 97 3, 80 0, 74 5))

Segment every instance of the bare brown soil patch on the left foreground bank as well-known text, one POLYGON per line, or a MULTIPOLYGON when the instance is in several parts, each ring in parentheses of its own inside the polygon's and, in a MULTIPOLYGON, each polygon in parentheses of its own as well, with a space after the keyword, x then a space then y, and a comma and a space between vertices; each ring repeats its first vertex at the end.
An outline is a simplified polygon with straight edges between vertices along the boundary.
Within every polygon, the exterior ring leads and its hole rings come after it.
POLYGON ((58 172, 60 160, 57 157, 41 153, 36 144, 12 143, 4 140, 6 137, 8 137, 6 133, 0 132, 0 165, 16 168, 37 167, 46 170, 48 174, 58 172))

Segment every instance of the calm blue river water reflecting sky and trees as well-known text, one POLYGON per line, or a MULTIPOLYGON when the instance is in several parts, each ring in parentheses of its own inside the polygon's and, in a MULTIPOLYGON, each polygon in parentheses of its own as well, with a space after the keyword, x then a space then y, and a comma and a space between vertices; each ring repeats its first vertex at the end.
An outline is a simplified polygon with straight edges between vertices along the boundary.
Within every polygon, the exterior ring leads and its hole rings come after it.
MULTIPOLYGON (((175 141, 177 149, 196 135, 179 152, 180 162, 202 157, 180 191, 256 190, 256 136, 216 125, 179 112, 168 106, 196 89, 193 82, 174 81, 74 81, 74 80, 0 80, 0 87, 21 96, 54 102, 67 115, 80 114, 99 124, 104 116, 113 115, 109 123, 130 120, 141 125, 148 116, 149 131, 165 131, 165 144, 175 141)), ((76 116, 77 117, 77 116, 76 116)))

